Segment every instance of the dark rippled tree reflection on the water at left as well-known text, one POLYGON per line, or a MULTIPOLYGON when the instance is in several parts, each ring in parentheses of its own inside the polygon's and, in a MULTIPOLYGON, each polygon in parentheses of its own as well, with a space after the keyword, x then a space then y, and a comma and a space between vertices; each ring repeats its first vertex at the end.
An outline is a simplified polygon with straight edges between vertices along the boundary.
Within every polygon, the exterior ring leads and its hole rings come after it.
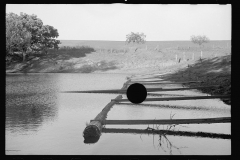
POLYGON ((6 131, 27 134, 56 118, 55 84, 49 76, 40 76, 6 77, 6 131))

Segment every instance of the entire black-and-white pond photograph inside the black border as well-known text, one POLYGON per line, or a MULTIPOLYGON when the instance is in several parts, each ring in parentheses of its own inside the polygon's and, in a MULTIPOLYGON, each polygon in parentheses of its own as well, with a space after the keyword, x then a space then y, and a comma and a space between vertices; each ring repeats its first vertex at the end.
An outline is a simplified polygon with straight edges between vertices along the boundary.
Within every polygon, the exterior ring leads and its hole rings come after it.
POLYGON ((6 4, 5 155, 231 155, 231 4, 6 4))

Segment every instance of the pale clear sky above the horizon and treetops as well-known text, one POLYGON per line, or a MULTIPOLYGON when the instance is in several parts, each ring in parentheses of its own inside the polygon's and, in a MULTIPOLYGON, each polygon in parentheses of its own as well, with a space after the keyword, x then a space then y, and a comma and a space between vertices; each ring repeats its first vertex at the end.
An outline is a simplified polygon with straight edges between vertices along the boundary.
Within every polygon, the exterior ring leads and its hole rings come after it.
POLYGON ((131 32, 147 41, 231 40, 232 6, 218 4, 7 4, 6 13, 35 14, 58 30, 59 40, 125 41, 131 32))

